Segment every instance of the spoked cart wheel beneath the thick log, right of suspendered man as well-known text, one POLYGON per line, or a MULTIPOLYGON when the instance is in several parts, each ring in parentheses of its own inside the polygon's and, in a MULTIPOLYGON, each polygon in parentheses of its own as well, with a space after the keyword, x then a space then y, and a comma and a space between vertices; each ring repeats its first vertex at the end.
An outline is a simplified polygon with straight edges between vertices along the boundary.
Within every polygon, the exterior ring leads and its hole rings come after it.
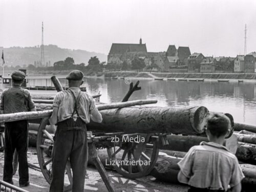
POLYGON ((107 149, 109 159, 116 171, 130 179, 150 174, 159 153, 158 137, 152 134, 137 136, 145 138, 145 142, 119 142, 118 146, 107 149))

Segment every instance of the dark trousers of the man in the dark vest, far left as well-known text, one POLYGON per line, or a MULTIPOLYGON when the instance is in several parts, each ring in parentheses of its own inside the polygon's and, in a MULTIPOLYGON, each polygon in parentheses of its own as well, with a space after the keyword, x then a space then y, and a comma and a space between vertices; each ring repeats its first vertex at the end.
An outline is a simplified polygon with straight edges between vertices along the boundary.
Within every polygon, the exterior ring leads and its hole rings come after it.
POLYGON ((28 121, 13 121, 5 123, 5 164, 3 180, 12 183, 13 153, 18 153, 19 184, 29 181, 28 152, 28 121))

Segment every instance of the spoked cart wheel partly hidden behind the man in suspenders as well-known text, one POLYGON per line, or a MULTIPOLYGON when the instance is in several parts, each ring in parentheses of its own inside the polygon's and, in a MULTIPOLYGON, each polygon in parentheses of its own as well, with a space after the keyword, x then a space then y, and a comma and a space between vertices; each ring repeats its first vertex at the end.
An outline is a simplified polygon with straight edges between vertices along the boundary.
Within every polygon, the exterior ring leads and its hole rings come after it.
MULTIPOLYGON (((41 121, 36 140, 36 150, 38 163, 41 168, 42 175, 44 175, 46 181, 51 183, 52 176, 52 148, 53 148, 53 134, 50 134, 46 130, 46 125, 49 124, 49 118, 45 118, 41 121)), ((68 161, 66 165, 66 174, 65 174, 65 186, 64 191, 72 190, 72 171, 70 162, 68 161)))

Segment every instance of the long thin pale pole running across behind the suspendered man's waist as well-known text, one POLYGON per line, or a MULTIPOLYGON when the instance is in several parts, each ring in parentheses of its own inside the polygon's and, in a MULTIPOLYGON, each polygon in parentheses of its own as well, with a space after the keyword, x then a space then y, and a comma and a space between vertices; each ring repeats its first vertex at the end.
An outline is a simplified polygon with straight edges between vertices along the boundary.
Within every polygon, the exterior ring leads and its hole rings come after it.
MULTIPOLYGON (((111 103, 111 104, 99 104, 97 105, 97 108, 98 110, 118 109, 118 108, 134 106, 134 105, 151 104, 156 102, 157 100, 135 100, 135 101, 117 102, 117 103, 111 103)), ((52 114, 52 110, 2 114, 0 115, 0 122, 11 122, 11 121, 24 120, 24 119, 42 119, 45 117, 50 117, 51 114, 52 114)))

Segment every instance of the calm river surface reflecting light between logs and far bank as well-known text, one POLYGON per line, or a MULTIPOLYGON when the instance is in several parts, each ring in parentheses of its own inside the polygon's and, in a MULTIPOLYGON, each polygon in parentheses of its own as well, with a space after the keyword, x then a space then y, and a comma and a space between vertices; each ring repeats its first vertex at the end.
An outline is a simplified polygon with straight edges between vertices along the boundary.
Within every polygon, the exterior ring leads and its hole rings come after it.
MULTIPOLYGON (((135 83, 137 80, 132 81, 135 83)), ((122 79, 88 78, 85 85, 91 94, 100 91, 100 101, 106 103, 121 101, 129 89, 129 84, 122 79)), ((157 99, 155 106, 205 106, 209 111, 230 113, 235 122, 256 125, 256 83, 142 79, 139 86, 141 90, 134 92, 130 100, 157 99)))

